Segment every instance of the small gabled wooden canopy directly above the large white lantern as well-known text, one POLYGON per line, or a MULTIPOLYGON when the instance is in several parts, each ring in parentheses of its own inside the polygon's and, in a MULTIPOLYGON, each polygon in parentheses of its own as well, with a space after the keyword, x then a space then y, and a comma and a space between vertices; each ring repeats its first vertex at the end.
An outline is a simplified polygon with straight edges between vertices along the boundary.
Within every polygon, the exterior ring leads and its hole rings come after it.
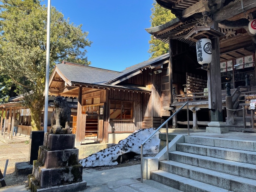
POLYGON ((225 34, 218 32, 215 29, 212 29, 210 26, 196 26, 194 27, 187 35, 184 36, 184 39, 195 39, 196 41, 200 39, 199 35, 203 35, 209 38, 214 37, 224 37, 225 34))

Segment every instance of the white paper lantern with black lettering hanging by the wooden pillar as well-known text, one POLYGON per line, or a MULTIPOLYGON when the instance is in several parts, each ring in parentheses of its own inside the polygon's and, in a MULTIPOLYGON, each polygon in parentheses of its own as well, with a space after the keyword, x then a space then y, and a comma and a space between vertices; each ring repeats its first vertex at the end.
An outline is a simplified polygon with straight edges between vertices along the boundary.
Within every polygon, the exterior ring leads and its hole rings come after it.
POLYGON ((197 61, 199 64, 208 64, 212 61, 212 42, 209 39, 197 41, 197 61))

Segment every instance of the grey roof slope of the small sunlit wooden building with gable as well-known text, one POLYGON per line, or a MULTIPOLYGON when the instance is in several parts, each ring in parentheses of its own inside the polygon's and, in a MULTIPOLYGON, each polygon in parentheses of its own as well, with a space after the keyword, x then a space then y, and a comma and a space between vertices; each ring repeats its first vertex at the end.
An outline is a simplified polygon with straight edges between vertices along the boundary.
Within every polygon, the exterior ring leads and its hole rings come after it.
POLYGON ((89 67, 79 64, 59 63, 56 67, 71 82, 81 82, 89 84, 104 84, 109 79, 117 76, 120 72, 89 67))

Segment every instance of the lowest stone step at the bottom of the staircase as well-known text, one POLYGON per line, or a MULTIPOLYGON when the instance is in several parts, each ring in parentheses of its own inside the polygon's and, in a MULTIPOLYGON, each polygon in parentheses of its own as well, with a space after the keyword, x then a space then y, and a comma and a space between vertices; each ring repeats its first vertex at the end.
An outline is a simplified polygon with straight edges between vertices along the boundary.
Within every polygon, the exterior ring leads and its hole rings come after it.
POLYGON ((150 178, 164 185, 179 189, 184 192, 228 192, 229 190, 178 176, 163 170, 153 171, 150 178))

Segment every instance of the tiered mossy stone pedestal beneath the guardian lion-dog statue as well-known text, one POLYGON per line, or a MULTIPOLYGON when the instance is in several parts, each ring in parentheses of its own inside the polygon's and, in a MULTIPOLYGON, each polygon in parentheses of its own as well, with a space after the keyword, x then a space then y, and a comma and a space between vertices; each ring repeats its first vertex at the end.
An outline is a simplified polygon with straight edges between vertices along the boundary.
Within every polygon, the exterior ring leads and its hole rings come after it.
POLYGON ((51 187, 60 185, 63 192, 66 188, 69 191, 69 187, 72 191, 84 189, 86 182, 82 182, 78 152, 74 134, 45 133, 44 145, 39 147, 38 160, 33 162, 33 173, 28 177, 31 191, 49 191, 51 187))

